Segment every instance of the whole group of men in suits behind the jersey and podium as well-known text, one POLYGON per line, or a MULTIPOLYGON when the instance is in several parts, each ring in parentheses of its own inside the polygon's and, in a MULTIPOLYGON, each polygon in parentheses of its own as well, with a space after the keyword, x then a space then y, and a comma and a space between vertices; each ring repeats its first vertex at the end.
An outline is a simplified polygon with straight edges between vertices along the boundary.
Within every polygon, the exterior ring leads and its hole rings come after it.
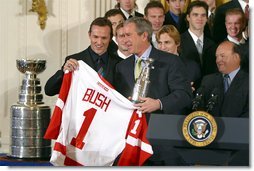
POLYGON ((199 88, 204 104, 216 88, 219 98, 210 114, 249 117, 249 0, 216 3, 167 0, 165 8, 160 0, 150 0, 143 15, 136 11, 136 0, 117 0, 114 9, 91 23, 90 46, 66 57, 45 93, 58 94, 64 71, 76 70, 77 60, 83 60, 129 98, 139 59, 144 67, 152 58, 147 97, 135 104, 142 112, 187 115, 199 88))

